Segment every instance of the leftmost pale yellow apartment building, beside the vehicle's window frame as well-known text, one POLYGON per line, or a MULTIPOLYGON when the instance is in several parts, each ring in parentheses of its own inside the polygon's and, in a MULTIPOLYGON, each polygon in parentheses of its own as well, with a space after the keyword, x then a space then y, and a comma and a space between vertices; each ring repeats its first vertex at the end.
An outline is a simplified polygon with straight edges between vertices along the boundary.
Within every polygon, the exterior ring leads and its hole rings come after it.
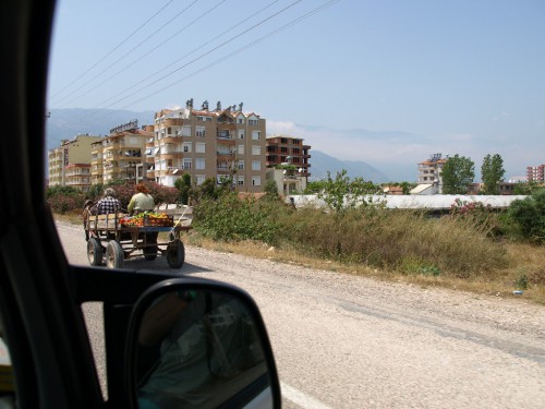
POLYGON ((62 140, 59 147, 48 152, 49 187, 72 187, 87 192, 90 184, 90 146, 101 136, 80 134, 62 140))

